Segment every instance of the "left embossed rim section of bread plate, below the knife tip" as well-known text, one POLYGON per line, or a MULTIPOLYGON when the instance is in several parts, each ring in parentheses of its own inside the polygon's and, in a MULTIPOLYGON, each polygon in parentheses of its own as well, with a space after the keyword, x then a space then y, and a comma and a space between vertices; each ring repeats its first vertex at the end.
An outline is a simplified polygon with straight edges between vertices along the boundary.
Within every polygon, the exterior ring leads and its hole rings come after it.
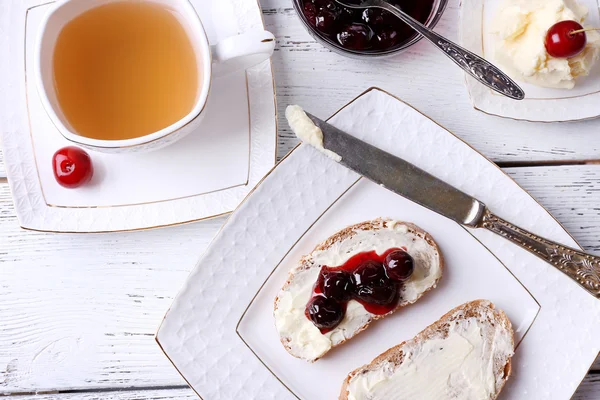
POLYGON ((230 217, 158 333, 166 354, 205 399, 294 398, 239 339, 236 325, 281 252, 356 175, 304 146, 276 171, 230 217), (309 184, 298 190, 301 182, 309 184))

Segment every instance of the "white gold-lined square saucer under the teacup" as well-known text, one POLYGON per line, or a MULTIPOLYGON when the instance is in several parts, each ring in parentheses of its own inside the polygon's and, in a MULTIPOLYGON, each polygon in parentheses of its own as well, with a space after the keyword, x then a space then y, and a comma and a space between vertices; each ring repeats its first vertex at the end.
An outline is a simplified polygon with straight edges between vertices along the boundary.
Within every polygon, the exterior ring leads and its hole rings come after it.
MULTIPOLYGON (((263 29, 256 0, 193 0, 209 40, 263 29), (218 24, 213 21, 219 21, 218 24)), ((269 61, 215 79, 199 129, 145 154, 89 152, 90 185, 65 189, 52 155, 70 145, 44 111, 33 79, 34 42, 52 2, 13 2, 6 11, 0 109, 4 160, 23 228, 55 232, 145 229, 231 212, 275 164, 276 108, 269 61), (8 62, 10 60, 10 63, 8 62)), ((5 6, 6 7, 6 6, 5 6)))

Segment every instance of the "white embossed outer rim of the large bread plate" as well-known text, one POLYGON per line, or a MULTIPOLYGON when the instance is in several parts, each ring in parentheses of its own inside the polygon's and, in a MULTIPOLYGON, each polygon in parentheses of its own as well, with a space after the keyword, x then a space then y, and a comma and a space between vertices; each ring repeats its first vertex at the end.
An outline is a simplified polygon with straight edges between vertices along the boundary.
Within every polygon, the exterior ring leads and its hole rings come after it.
MULTIPOLYGON (((370 90, 331 122, 477 196, 498 215, 576 246, 499 168, 394 97, 370 90)), ((242 203, 199 261, 157 340, 204 399, 293 398, 241 342, 236 324, 273 267, 356 178, 300 146, 242 203)), ((600 303, 524 250, 491 233, 472 232, 541 306, 515 356, 514 377, 504 396, 569 399, 598 354, 600 303)))

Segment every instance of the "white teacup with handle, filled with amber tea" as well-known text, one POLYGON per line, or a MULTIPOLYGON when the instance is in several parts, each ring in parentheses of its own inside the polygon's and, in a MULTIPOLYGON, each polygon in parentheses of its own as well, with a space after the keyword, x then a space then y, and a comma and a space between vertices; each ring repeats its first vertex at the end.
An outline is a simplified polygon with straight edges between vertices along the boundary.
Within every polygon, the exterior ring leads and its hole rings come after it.
POLYGON ((197 128, 215 70, 256 65, 267 31, 210 46, 188 0, 63 0, 37 41, 44 108, 68 140, 100 151, 151 150, 197 128))

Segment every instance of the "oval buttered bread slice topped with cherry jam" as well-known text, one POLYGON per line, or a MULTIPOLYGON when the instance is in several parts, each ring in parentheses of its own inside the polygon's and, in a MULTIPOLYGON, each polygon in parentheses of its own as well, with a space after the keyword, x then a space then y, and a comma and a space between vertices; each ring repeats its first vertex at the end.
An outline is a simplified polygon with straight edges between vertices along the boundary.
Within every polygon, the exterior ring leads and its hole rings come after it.
POLYGON ((443 264, 433 238, 414 224, 375 219, 349 226, 319 244, 290 271, 275 299, 275 325, 281 342, 291 355, 314 362, 331 348, 365 330, 372 321, 416 302, 436 287, 442 277, 443 264), (414 259, 414 272, 401 286, 398 306, 388 314, 375 315, 350 300, 342 322, 321 334, 305 315, 321 266, 340 266, 355 254, 372 250, 383 254, 394 247, 405 247, 414 259))

